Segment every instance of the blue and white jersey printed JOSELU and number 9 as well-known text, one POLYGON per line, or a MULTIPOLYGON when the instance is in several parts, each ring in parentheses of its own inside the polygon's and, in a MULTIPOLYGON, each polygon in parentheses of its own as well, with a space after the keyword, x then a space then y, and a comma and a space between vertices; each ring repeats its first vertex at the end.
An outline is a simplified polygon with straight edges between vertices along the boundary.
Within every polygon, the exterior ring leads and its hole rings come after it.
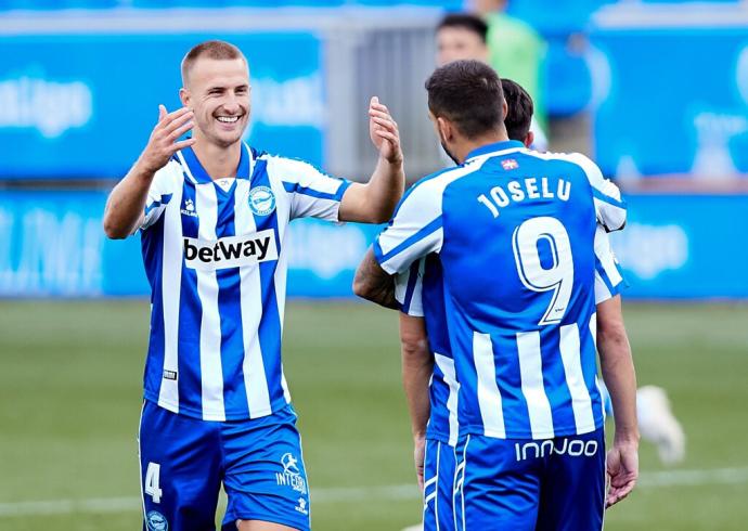
POLYGON ((602 426, 597 221, 622 228, 626 206, 592 161, 513 141, 423 179, 399 205, 375 255, 395 274, 438 254, 461 430, 545 439, 602 426))

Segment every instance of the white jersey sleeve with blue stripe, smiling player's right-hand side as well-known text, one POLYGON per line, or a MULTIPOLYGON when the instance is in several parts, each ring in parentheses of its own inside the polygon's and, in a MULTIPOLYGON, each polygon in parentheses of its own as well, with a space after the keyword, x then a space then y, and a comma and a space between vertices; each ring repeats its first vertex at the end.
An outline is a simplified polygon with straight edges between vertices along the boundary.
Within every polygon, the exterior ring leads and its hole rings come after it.
POLYGON ((291 219, 338 221, 343 195, 350 181, 323 173, 302 160, 270 157, 269 171, 280 177, 291 199, 291 219))

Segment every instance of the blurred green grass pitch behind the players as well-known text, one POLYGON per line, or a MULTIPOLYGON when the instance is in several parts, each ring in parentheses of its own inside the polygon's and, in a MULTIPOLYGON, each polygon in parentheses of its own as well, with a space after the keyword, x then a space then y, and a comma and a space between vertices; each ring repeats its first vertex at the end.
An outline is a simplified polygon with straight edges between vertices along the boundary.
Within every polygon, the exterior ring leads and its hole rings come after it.
MULTIPOLYGON (((0 529, 139 529, 147 311, 144 300, 0 302, 0 529)), ((626 314, 640 384, 668 390, 688 455, 665 471, 643 443, 641 485, 606 529, 746 529, 748 307, 628 305, 626 314)), ((395 313, 295 302, 285 331, 314 529, 415 523, 395 313)))

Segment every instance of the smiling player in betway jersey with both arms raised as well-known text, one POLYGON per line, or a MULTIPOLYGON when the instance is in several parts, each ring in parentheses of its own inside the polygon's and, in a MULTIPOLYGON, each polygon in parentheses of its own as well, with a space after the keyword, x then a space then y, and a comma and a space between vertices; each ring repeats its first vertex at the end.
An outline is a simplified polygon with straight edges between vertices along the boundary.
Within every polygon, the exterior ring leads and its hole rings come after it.
POLYGON ((109 237, 141 232, 152 287, 140 425, 144 529, 308 530, 309 491, 281 363, 288 222, 382 222, 402 195, 397 124, 376 98, 379 158, 367 184, 242 142, 248 64, 223 41, 181 65, 167 113, 104 216, 109 237), (192 138, 178 140, 192 130, 192 138))

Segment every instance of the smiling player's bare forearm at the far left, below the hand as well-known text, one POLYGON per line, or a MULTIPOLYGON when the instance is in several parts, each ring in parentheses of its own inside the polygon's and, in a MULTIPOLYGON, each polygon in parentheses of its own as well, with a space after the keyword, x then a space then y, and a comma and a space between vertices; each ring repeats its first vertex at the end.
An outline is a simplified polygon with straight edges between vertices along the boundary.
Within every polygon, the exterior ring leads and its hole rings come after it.
POLYGON ((140 222, 154 172, 140 161, 112 190, 104 209, 104 232, 111 238, 125 238, 140 222))

